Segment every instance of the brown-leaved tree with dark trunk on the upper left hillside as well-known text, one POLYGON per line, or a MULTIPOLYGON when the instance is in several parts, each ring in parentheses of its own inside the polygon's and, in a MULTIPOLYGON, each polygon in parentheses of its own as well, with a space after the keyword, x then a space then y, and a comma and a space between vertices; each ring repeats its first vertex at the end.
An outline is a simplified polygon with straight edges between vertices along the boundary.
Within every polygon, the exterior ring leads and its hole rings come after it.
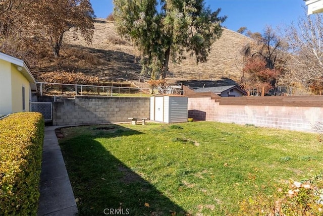
POLYGON ((39 12, 34 16, 35 34, 42 34, 50 44, 55 58, 59 57, 63 35, 73 28, 74 37, 77 32, 88 43, 93 35, 94 11, 89 0, 47 0, 35 1, 34 8, 39 12))

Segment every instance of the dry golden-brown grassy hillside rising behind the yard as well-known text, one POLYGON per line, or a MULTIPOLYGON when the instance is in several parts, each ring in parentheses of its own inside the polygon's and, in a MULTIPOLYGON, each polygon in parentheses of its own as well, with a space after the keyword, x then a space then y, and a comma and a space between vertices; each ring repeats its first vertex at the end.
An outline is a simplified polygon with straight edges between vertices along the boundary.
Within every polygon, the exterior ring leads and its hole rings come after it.
MULTIPOLYGON (((113 22, 98 19, 94 23, 94 27, 92 44, 86 44, 83 40, 73 40, 72 34, 67 32, 65 43, 70 44, 70 49, 65 53, 62 52, 63 55, 77 57, 75 61, 87 60, 88 63, 83 64, 83 70, 99 73, 101 78, 137 79, 141 67, 136 48, 132 46, 130 41, 123 39, 116 33, 113 22), (90 55, 88 55, 89 53, 90 55)), ((248 40, 250 39, 242 34, 224 29, 221 38, 213 43, 206 63, 197 65, 194 57, 187 54, 187 59, 183 60, 181 64, 170 63, 168 77, 179 80, 216 80, 229 77, 238 81, 241 76, 238 69, 241 69, 240 50, 248 40)), ((73 68, 68 65, 66 67, 73 68)))

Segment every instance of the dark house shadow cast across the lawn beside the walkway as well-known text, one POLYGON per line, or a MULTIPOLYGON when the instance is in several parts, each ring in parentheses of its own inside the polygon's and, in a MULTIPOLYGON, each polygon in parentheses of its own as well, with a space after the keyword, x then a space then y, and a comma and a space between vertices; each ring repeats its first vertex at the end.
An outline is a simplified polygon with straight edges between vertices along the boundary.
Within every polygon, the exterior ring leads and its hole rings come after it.
POLYGON ((95 140, 141 132, 120 125, 95 130, 93 136, 80 135, 60 142, 79 215, 185 215, 180 206, 95 140))

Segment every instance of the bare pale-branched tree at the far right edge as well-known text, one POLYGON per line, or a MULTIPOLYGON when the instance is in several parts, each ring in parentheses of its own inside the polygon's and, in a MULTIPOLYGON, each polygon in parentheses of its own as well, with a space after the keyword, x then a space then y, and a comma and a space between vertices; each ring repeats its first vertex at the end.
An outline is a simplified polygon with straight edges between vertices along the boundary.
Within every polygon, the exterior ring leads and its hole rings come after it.
POLYGON ((304 9, 304 16, 290 26, 286 38, 290 41, 291 77, 318 92, 314 87, 323 83, 323 15, 308 16, 304 9))

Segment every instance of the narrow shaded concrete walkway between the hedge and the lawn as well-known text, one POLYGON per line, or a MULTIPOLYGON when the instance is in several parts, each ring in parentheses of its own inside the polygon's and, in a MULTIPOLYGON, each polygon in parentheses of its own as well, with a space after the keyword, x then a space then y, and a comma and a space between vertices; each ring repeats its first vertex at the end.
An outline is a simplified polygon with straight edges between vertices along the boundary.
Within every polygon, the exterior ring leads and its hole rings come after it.
POLYGON ((78 213, 56 128, 59 127, 45 127, 38 216, 74 216, 78 213))

